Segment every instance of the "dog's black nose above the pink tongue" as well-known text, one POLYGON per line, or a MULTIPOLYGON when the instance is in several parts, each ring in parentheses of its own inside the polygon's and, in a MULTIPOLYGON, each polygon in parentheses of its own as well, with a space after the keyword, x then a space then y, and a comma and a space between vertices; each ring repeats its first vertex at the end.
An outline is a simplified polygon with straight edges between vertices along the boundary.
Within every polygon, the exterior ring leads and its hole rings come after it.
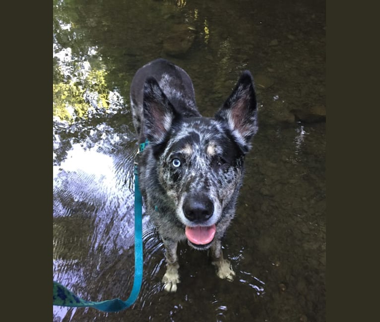
POLYGON ((191 221, 206 221, 214 212, 214 205, 206 196, 191 196, 186 198, 183 211, 191 221))

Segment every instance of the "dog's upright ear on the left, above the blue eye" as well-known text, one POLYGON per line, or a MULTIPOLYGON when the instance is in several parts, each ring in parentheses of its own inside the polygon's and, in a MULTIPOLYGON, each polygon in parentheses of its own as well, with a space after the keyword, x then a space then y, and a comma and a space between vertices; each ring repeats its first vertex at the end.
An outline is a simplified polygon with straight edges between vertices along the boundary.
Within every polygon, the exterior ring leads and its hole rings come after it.
POLYGON ((161 142, 172 126, 175 110, 153 77, 144 83, 143 107, 146 138, 161 142))

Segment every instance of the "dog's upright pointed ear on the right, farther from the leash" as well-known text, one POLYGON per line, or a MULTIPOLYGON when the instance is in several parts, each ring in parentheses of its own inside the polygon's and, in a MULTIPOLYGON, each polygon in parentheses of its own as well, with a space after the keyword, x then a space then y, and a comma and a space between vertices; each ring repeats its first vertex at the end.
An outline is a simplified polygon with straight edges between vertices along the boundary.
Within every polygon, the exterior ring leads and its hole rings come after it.
POLYGON ((230 97, 215 114, 216 120, 225 121, 243 152, 251 148, 250 141, 256 134, 257 102, 251 73, 242 73, 230 97))

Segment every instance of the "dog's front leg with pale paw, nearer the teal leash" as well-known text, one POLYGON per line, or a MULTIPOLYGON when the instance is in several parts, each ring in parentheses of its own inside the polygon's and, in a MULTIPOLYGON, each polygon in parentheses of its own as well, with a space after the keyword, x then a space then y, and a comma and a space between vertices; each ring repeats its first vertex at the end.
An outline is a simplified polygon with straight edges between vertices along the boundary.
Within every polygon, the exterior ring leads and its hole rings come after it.
POLYGON ((162 278, 164 283, 164 289, 167 292, 176 292, 177 284, 180 282, 180 275, 178 273, 178 264, 177 257, 177 245, 178 242, 169 239, 163 239, 165 246, 165 258, 166 258, 166 273, 162 278))

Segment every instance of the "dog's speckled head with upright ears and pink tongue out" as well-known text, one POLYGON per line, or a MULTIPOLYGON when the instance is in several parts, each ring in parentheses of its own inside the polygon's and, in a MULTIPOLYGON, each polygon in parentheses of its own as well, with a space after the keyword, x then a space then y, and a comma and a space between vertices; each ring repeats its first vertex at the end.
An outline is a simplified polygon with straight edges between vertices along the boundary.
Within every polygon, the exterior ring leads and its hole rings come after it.
POLYGON ((234 215, 243 161, 257 131, 257 103, 249 71, 214 118, 179 113, 154 78, 143 94, 143 134, 157 177, 189 244, 208 248, 234 215), (219 226, 218 226, 219 225, 219 226))

